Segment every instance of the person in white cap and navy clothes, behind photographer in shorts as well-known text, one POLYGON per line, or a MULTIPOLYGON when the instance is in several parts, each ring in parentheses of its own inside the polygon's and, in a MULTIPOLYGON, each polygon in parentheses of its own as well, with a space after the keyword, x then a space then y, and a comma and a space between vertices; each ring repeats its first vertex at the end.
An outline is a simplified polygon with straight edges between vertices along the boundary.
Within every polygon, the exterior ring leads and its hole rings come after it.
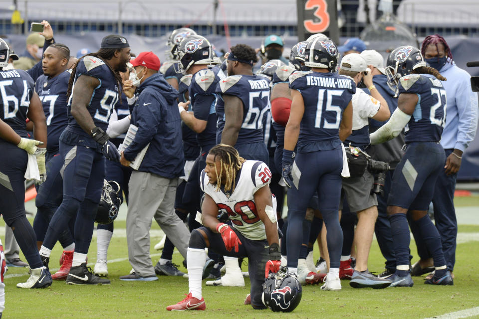
MULTIPOLYGON (((393 92, 387 85, 388 78, 386 76, 382 55, 375 50, 365 50, 361 52, 361 56, 366 60, 368 67, 371 69, 373 84, 375 86, 373 92, 379 92, 379 94, 384 97, 388 102, 389 111, 393 114, 394 110, 398 107, 398 99, 394 97, 396 92, 393 92)), ((368 89, 364 89, 364 91, 369 94, 368 89)), ((376 131, 384 124, 386 124, 386 121, 381 122, 369 119, 369 132, 372 133, 376 131)), ((396 256, 394 254, 391 225, 389 224, 386 207, 394 169, 403 157, 404 152, 401 149, 404 144, 404 134, 401 133, 391 141, 383 144, 371 145, 368 148, 368 154, 373 160, 388 162, 390 165, 390 170, 385 173, 385 180, 382 184, 383 192, 376 192, 378 199, 378 218, 374 231, 378 240, 379 249, 381 250, 383 257, 386 259, 386 270, 378 275, 380 278, 387 278, 396 271, 396 256)), ((380 183, 381 181, 377 180, 375 182, 375 187, 380 187, 380 183)))

